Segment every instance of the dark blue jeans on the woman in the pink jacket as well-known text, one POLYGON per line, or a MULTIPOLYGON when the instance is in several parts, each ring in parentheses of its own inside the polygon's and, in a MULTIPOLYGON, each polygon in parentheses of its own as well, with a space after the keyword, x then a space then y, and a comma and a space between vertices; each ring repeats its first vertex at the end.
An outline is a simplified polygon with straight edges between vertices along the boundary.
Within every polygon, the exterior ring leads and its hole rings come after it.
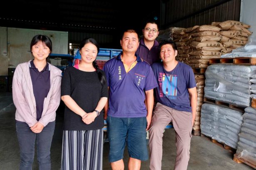
POLYGON ((50 148, 55 129, 52 121, 36 134, 25 122, 16 122, 17 138, 20 145, 20 170, 32 170, 35 155, 35 140, 37 139, 37 161, 40 170, 50 170, 50 148))

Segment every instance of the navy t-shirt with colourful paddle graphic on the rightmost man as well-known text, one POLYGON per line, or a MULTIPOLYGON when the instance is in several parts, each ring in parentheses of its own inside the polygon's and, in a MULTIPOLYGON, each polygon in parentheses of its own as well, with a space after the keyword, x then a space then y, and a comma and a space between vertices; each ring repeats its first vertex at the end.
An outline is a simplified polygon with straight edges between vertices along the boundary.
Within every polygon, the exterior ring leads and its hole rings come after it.
POLYGON ((163 63, 154 63, 152 69, 158 83, 155 88, 157 102, 179 111, 191 112, 188 89, 196 87, 191 67, 178 61, 171 71, 164 70, 163 63))

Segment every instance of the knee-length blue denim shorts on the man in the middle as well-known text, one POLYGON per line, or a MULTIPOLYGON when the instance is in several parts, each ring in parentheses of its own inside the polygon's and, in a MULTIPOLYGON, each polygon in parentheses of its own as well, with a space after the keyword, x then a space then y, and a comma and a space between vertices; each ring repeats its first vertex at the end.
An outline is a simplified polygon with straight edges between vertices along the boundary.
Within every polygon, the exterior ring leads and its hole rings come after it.
POLYGON ((121 160, 127 143, 131 158, 148 160, 147 118, 107 117, 107 134, 109 138, 109 162, 121 160))

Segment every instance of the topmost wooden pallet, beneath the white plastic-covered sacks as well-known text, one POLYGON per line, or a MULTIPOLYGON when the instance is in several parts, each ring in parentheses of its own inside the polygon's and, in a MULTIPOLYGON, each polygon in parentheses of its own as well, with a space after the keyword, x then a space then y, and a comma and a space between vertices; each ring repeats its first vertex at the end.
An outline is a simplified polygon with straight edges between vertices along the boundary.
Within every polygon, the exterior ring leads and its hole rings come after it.
POLYGON ((256 58, 254 57, 239 57, 239 58, 211 58, 210 64, 236 64, 236 65, 256 65, 256 58))

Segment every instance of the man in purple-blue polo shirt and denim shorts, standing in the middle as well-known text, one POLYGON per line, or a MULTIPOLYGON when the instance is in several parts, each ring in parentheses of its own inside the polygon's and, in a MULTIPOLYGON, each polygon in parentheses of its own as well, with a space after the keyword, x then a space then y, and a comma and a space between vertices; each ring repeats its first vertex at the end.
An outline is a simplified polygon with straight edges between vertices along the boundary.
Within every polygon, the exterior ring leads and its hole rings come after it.
POLYGON ((158 85, 150 65, 135 55, 138 34, 129 29, 120 43, 123 52, 104 66, 109 86, 109 162, 113 170, 124 169, 123 152, 127 142, 128 167, 139 170, 141 160, 148 159, 146 130, 152 117, 153 89, 158 85))

